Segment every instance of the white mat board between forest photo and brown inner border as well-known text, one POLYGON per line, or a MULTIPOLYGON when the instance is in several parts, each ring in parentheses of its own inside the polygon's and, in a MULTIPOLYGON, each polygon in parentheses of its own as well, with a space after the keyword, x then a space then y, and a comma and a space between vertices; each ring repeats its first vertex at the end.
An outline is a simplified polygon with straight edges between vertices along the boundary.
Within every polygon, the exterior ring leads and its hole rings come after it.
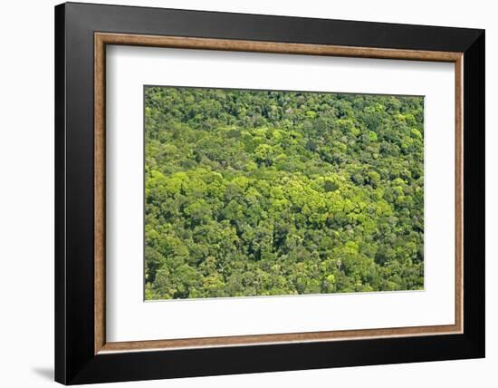
POLYGON ((455 323, 454 63, 110 46, 106 71, 108 341, 455 323), (144 84, 425 96, 424 290, 144 303, 144 84))

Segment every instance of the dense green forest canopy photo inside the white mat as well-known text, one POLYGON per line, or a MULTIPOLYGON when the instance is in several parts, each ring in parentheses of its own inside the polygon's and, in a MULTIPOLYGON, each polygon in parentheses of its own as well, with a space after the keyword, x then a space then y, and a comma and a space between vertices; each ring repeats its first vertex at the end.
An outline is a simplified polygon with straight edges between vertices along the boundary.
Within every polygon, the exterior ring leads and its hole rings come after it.
POLYGON ((146 87, 146 299, 423 288, 423 107, 146 87))

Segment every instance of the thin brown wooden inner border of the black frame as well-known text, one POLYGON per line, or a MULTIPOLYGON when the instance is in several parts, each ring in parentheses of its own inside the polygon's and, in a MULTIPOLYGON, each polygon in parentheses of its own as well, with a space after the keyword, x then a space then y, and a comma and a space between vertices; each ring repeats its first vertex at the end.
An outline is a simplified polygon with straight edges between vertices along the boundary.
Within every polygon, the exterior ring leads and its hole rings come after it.
POLYGON ((449 335, 463 333, 463 54, 417 50, 393 50, 323 44, 207 39, 138 34, 94 34, 94 291, 95 354, 202 348, 217 346, 282 344, 355 340, 381 337, 449 335), (107 343, 105 338, 105 46, 106 44, 153 46, 257 53, 292 53, 359 58, 402 59, 455 63, 455 325, 396 327, 276 335, 237 335, 157 341, 107 343))

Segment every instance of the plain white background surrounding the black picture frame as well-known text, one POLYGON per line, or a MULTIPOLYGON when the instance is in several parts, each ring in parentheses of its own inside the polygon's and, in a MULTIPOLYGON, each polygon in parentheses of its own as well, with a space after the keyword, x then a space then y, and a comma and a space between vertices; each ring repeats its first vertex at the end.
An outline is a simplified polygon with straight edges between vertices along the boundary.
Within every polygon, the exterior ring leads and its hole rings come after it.
MULTIPOLYGON (((94 1, 100 3, 99 1, 94 1)), ((365 386, 488 387, 498 366, 498 105, 493 2, 323 0, 228 2, 114 1, 273 15, 486 28, 487 358, 319 371, 259 373, 174 381, 119 383, 140 387, 365 386), (493 200, 494 199, 494 200, 493 200)), ((50 0, 4 2, 0 9, 0 384, 53 386, 53 5, 50 0)))

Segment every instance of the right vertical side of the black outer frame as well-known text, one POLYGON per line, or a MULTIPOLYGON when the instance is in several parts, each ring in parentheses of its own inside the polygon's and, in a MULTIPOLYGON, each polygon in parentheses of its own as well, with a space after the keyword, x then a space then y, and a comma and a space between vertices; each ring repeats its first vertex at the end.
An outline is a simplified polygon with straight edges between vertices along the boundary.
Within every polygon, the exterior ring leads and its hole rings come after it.
POLYGON ((485 31, 464 52, 464 335, 485 356, 485 31))

